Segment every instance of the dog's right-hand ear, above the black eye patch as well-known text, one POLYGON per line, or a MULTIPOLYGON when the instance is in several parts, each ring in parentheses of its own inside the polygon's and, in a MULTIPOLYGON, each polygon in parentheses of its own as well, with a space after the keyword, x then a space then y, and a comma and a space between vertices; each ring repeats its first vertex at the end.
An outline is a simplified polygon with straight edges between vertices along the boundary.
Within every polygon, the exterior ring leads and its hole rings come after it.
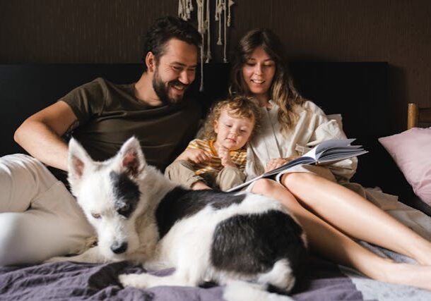
POLYGON ((124 142, 118 156, 120 169, 134 178, 138 177, 146 166, 141 145, 136 137, 131 137, 124 142))

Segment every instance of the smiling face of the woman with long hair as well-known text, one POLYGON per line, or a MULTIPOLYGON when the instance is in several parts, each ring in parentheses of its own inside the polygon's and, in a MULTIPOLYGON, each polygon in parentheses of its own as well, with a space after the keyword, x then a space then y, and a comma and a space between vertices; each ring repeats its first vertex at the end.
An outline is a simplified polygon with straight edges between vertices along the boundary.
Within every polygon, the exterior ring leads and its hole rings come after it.
POLYGON ((269 88, 275 73, 276 63, 260 46, 254 49, 242 66, 242 76, 249 92, 259 99, 261 104, 269 100, 269 88))

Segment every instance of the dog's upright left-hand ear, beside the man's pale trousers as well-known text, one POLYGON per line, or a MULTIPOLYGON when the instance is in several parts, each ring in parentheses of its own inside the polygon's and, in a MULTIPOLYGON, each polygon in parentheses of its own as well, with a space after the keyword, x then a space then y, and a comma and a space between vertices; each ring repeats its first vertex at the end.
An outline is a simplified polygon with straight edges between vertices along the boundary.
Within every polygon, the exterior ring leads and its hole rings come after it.
POLYGON ((93 163, 85 149, 73 138, 69 141, 69 156, 68 156, 69 176, 68 180, 72 190, 76 191, 85 168, 93 163))

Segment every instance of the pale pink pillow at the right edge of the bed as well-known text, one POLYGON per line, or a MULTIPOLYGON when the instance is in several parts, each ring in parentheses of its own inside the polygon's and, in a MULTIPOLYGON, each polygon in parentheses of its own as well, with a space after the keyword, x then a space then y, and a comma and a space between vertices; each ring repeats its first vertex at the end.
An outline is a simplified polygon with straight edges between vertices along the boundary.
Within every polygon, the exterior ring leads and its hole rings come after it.
POLYGON ((411 128, 379 138, 414 192, 431 206, 431 128, 411 128))

